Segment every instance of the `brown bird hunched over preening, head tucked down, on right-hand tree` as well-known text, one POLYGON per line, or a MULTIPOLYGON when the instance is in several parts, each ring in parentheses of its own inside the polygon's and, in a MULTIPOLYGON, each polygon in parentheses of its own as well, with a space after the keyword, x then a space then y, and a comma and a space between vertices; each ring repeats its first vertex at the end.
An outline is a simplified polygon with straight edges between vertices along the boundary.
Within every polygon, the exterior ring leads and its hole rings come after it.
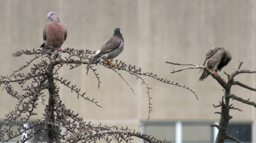
MULTIPOLYGON (((212 72, 214 72, 214 75, 217 76, 218 73, 216 72, 220 72, 222 68, 230 62, 231 59, 232 56, 228 50, 222 47, 214 47, 205 55, 203 66, 206 64, 206 66, 212 72)), ((206 72, 206 70, 203 70, 199 81, 203 81, 206 79, 206 77, 208 77, 208 75, 209 73, 206 72)))

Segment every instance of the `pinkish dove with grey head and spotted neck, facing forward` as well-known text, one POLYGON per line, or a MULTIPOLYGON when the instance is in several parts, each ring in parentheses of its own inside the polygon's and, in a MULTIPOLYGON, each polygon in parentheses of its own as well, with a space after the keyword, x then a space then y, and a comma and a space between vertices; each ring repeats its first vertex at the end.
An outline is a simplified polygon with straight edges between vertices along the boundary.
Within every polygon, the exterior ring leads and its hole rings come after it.
POLYGON ((46 24, 43 32, 45 42, 40 47, 50 47, 51 50, 58 48, 60 52, 61 46, 67 38, 67 27, 60 22, 60 18, 55 12, 48 13, 46 21, 48 20, 50 22, 46 24))

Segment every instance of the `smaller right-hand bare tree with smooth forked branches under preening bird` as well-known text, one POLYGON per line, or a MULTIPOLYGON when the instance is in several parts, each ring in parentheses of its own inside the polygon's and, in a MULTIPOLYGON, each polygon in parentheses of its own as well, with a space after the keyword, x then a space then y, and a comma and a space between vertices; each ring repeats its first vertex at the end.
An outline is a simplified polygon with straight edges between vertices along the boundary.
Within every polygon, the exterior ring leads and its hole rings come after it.
POLYGON ((245 100, 242 97, 238 97, 238 96, 232 94, 231 87, 233 85, 239 85, 240 87, 243 87, 245 89, 248 89, 251 91, 256 91, 256 88, 252 88, 252 87, 250 87, 244 83, 241 83, 239 81, 234 81, 234 77, 236 75, 241 74, 241 73, 256 73, 256 70, 240 69, 243 64, 243 62, 240 62, 238 68, 235 69, 234 72, 232 72, 230 74, 227 74, 224 72, 228 76, 228 81, 226 82, 226 81, 224 81, 224 79, 220 78, 220 76, 215 76, 215 74, 211 70, 209 70, 206 66, 198 66, 198 65, 194 65, 194 64, 179 64, 179 63, 173 63, 173 62, 166 62, 166 63, 173 64, 173 65, 179 65, 179 66, 187 66, 184 68, 180 68, 179 70, 173 70, 173 71, 171 71, 171 73, 181 72, 181 71, 187 70, 187 69, 204 69, 210 75, 212 75, 212 77, 214 79, 216 79, 216 81, 218 81, 219 85, 224 88, 224 96, 222 97, 222 101, 219 102, 220 103, 219 105, 217 105, 217 106, 213 105, 214 107, 221 107, 221 112, 215 112, 216 114, 220 114, 219 125, 211 125, 211 127, 218 128, 218 135, 216 137, 215 143, 224 143, 225 139, 231 139, 233 141, 236 141, 237 143, 242 143, 235 137, 231 137, 230 135, 228 135, 226 133, 226 129, 228 128, 228 122, 230 119, 233 118, 229 114, 230 109, 242 111, 239 108, 235 108, 234 105, 232 103, 230 103, 230 99, 234 99, 234 100, 240 101, 244 104, 252 105, 254 107, 256 107, 256 103, 254 101, 250 101, 250 99, 245 100))

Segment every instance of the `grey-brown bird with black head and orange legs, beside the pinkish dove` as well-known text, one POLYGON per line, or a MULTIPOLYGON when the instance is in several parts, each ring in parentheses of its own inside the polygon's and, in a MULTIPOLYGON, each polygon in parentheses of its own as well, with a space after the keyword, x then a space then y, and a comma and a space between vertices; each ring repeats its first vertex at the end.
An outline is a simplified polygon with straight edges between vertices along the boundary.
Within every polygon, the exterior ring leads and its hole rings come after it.
POLYGON ((116 28, 112 37, 107 39, 96 55, 88 62, 88 65, 97 63, 101 58, 108 63, 113 64, 109 60, 117 57, 124 47, 124 39, 120 28, 116 28))

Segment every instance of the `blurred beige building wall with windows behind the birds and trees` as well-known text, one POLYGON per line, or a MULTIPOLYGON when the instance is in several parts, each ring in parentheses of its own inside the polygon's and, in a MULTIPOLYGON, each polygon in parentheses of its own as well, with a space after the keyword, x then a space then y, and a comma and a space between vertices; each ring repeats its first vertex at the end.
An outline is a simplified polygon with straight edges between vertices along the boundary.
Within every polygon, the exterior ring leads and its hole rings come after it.
MULTIPOLYGON (((148 95, 145 85, 135 76, 121 72, 131 84, 135 95, 117 73, 102 66, 94 66, 101 80, 92 71, 86 75, 86 66, 69 70, 64 65, 59 75, 77 84, 85 96, 102 106, 86 100, 60 87, 60 97, 67 108, 79 113, 93 124, 128 126, 130 129, 151 134, 157 139, 176 143, 213 143, 222 100, 222 87, 212 78, 203 82, 199 70, 170 73, 181 66, 168 62, 202 65, 210 48, 222 46, 232 54, 232 60, 223 68, 231 73, 243 61, 242 69, 256 68, 256 1, 255 0, 0 0, 0 75, 26 64, 34 56, 13 57, 18 50, 38 48, 43 41, 43 30, 48 12, 56 12, 67 26, 67 39, 62 49, 98 50, 104 41, 121 28, 125 40, 123 52, 115 59, 141 67, 142 72, 153 72, 159 77, 189 86, 198 95, 174 85, 166 85, 147 77, 153 112, 147 120, 148 95)), ((66 55, 63 54, 62 58, 66 55)), ((222 72, 221 77, 227 80, 222 72)), ((241 74, 235 80, 256 87, 255 74, 241 74)), ((0 87, 0 121, 14 110, 18 103, 0 87)), ((17 85, 14 89, 21 91, 17 85)), ((232 94, 243 99, 256 100, 256 93, 239 86, 232 94)), ((47 95, 47 92, 45 93, 47 95)), ((255 143, 256 109, 231 100, 228 133, 247 143, 255 143)), ((47 103, 45 103, 47 104, 47 103)), ((45 105, 36 109, 42 119, 45 105)), ((226 140, 228 142, 228 140, 226 140)), ((135 142, 140 142, 138 139, 135 142)))

